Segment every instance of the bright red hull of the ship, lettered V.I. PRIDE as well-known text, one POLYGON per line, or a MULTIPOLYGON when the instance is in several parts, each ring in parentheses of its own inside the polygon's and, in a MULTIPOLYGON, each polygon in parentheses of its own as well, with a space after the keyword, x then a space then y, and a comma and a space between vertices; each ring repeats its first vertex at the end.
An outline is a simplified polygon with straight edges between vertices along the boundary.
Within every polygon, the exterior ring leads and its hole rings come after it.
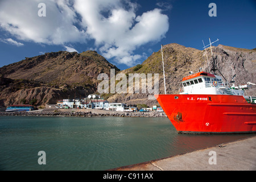
POLYGON ((156 95, 178 133, 255 133, 256 105, 243 96, 156 95))

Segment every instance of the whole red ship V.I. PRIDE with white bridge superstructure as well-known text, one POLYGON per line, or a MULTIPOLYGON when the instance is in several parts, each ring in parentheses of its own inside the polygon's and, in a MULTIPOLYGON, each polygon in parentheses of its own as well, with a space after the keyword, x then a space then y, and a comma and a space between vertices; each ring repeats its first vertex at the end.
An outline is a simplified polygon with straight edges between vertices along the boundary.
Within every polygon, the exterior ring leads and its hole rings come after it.
POLYGON ((202 71, 181 84, 180 94, 155 95, 178 133, 256 132, 255 97, 243 94, 250 85, 230 87, 220 76, 202 71))

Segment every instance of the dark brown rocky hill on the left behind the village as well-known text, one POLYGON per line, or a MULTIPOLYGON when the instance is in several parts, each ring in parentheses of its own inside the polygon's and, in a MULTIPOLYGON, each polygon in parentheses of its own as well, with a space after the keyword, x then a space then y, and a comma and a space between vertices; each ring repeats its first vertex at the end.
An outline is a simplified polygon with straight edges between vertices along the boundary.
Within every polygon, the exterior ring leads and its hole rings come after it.
POLYGON ((0 105, 56 104, 97 91, 99 73, 110 74, 110 64, 96 51, 51 52, 0 68, 0 105))

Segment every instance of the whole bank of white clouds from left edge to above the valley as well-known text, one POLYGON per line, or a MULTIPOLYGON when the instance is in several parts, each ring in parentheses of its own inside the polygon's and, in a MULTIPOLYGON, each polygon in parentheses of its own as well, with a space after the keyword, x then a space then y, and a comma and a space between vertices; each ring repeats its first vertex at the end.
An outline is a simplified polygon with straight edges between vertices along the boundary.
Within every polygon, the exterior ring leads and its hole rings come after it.
POLYGON ((38 16, 40 2, 1 1, 0 26, 19 40, 36 43, 63 46, 94 40, 106 59, 129 66, 144 56, 134 54, 135 49, 159 42, 169 28, 162 10, 136 15, 137 3, 130 0, 45 0, 46 17, 38 16))

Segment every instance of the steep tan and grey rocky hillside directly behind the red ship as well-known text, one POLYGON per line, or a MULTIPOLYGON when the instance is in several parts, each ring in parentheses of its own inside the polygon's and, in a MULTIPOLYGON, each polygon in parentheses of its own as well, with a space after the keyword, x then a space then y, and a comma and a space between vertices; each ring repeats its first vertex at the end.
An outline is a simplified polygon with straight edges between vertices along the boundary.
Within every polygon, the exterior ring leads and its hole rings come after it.
MULTIPOLYGON (((203 71, 209 71, 207 53, 210 69, 215 65, 226 80, 231 81, 236 75, 234 81, 238 85, 246 84, 248 81, 256 83, 256 51, 254 49, 219 45, 212 47, 212 50, 213 56, 210 54, 210 48, 206 52, 175 43, 163 46, 167 94, 179 93, 180 81, 183 77, 188 76, 190 71, 196 73, 199 68, 203 68, 203 71)), ((216 73, 220 75, 218 71, 216 73)), ((164 94, 161 50, 152 53, 141 65, 126 69, 121 73, 126 75, 129 73, 159 73, 159 93, 164 94)), ((255 86, 247 90, 246 93, 256 96, 255 86)), ((158 104, 156 100, 148 100, 148 94, 130 94, 128 92, 127 94, 112 94, 108 100, 126 102, 127 104, 147 104, 148 106, 158 104)))

